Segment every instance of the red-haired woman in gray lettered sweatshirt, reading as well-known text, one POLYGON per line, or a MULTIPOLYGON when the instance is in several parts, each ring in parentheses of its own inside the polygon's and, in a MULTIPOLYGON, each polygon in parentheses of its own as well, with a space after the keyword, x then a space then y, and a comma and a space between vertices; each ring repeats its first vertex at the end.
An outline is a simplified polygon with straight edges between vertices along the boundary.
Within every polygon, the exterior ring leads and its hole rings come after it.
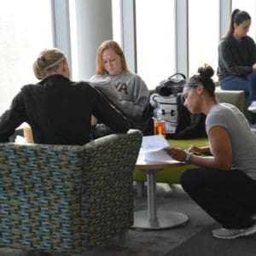
MULTIPOLYGON (((131 128, 143 131, 143 112, 148 105, 148 87, 136 73, 128 70, 123 50, 113 40, 104 41, 96 53, 96 75, 90 81, 110 81, 120 101, 113 102, 129 119, 131 128)), ((108 95, 107 95, 108 96, 108 95)), ((111 101, 110 96, 108 99, 111 101)))

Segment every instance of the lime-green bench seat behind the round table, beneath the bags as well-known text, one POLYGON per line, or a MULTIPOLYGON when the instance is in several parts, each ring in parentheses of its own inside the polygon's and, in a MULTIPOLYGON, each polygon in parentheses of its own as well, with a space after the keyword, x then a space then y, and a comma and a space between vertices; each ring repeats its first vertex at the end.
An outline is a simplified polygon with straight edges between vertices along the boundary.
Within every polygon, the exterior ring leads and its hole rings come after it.
MULTIPOLYGON (((199 147, 207 146, 207 137, 195 138, 195 139, 183 139, 183 140, 167 140, 171 147, 174 148, 189 148, 190 145, 196 145, 199 147)), ((183 165, 178 167, 170 167, 157 172, 156 182, 157 183, 176 183, 179 184, 179 179, 183 171, 196 168, 193 165, 183 165)), ((137 182, 146 182, 147 177, 145 172, 135 169, 133 172, 133 180, 137 182)))

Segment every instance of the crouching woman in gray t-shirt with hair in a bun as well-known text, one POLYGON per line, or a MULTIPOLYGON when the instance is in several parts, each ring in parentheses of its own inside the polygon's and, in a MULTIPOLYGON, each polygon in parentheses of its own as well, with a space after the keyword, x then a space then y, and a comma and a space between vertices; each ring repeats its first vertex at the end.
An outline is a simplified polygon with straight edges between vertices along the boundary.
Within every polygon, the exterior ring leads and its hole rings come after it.
POLYGON ((207 115, 209 147, 166 148, 166 152, 175 160, 200 166, 183 172, 183 189, 221 224, 212 235, 231 239, 256 232, 256 137, 243 113, 217 102, 213 73, 210 66, 200 67, 183 89, 184 106, 191 113, 207 115))

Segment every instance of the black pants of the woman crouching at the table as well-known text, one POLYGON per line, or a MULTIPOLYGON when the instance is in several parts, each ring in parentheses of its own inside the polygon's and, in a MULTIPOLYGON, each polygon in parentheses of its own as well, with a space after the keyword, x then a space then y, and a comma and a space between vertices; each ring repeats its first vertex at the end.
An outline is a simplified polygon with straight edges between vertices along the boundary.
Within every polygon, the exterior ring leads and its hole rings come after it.
POLYGON ((246 229, 256 213, 256 181, 240 171, 205 168, 183 172, 188 195, 226 229, 246 229))

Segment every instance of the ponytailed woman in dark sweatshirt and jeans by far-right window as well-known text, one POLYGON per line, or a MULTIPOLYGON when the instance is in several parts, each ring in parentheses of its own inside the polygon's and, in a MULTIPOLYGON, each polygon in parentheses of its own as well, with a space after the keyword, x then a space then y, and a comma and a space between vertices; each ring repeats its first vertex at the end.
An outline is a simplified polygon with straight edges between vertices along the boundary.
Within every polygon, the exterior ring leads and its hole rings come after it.
POLYGON ((223 90, 244 90, 248 110, 253 112, 251 123, 256 123, 256 46, 247 36, 251 16, 235 9, 230 27, 218 45, 218 80, 223 90))

